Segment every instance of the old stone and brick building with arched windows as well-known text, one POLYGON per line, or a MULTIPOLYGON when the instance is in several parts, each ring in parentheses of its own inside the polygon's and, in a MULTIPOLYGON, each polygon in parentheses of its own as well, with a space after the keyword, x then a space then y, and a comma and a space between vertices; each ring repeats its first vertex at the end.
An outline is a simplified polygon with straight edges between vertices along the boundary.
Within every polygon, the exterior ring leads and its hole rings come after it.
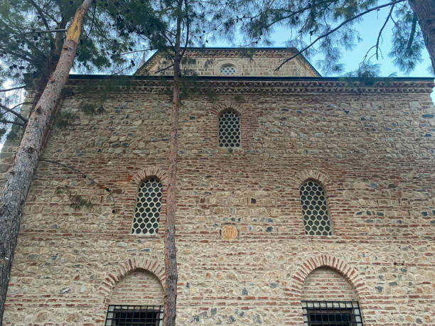
MULTIPOLYGON (((321 77, 301 57, 275 72, 292 51, 186 52, 178 325, 434 325, 432 80, 321 77)), ((4 325, 159 325, 164 67, 157 54, 122 80, 70 77, 4 325)))

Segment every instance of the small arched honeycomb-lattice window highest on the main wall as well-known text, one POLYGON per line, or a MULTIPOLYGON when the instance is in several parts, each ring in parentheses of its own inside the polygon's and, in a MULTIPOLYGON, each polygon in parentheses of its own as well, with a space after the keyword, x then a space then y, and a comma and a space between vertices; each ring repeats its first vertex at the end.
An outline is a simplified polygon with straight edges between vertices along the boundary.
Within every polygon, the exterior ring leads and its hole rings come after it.
POLYGON ((240 116, 226 111, 219 116, 219 146, 240 147, 240 116))

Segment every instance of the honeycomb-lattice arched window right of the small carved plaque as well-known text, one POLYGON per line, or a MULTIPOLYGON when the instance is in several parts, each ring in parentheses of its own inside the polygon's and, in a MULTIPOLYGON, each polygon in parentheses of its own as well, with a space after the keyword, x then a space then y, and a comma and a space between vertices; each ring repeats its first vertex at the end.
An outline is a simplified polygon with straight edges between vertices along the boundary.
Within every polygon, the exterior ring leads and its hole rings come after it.
POLYGON ((323 187, 314 181, 307 181, 301 186, 300 194, 305 234, 332 235, 331 219, 323 187))

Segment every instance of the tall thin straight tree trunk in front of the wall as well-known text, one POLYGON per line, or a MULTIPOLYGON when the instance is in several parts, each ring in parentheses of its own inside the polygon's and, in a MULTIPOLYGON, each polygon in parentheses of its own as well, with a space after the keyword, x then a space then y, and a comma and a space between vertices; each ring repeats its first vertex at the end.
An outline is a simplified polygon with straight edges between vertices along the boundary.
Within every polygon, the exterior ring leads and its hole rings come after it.
MULTIPOLYGON (((181 10, 182 2, 178 2, 181 10)), ((176 43, 173 59, 173 97, 171 114, 171 140, 169 143, 169 173, 168 173, 168 195, 166 197, 166 233, 165 233, 165 268, 166 285, 165 300, 163 305, 163 325, 176 325, 176 303, 177 303, 177 253, 175 244, 176 226, 176 184, 177 184, 177 132, 178 132, 178 110, 180 109, 180 36, 181 36, 181 15, 177 17, 176 43)))

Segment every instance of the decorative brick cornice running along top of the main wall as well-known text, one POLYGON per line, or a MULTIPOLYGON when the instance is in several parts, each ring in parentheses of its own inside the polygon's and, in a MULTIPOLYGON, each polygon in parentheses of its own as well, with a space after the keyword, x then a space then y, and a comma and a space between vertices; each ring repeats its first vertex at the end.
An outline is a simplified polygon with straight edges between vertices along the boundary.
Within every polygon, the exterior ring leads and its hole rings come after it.
MULTIPOLYGON (((360 82, 340 80, 192 80, 190 88, 208 94, 381 94, 381 93, 430 93, 432 80, 392 80, 363 85, 360 82)), ((102 80, 70 79, 68 88, 83 87, 86 91, 104 89, 102 80)), ((125 85, 112 86, 111 91, 166 93, 171 91, 172 80, 132 79, 125 85)))

